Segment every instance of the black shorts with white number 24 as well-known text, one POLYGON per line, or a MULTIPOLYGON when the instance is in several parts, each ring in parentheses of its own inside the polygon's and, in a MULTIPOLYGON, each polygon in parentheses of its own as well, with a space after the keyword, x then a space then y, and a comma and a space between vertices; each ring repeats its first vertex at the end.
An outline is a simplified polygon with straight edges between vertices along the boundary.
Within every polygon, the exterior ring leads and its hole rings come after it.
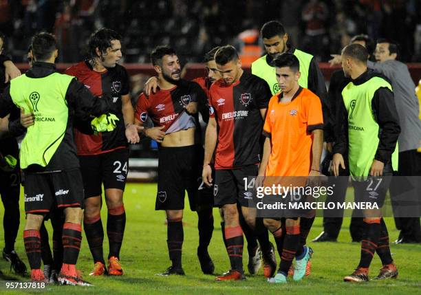
POLYGON ((101 184, 104 184, 104 189, 125 190, 129 171, 129 149, 116 149, 99 155, 80 155, 79 162, 85 198, 101 195, 101 184))

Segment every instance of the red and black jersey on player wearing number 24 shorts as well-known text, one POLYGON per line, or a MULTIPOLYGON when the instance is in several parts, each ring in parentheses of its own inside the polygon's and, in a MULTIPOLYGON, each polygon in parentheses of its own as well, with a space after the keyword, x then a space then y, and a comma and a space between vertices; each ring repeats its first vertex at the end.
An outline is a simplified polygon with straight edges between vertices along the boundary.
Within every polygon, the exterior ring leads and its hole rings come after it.
POLYGON ((78 78, 94 96, 112 102, 111 113, 120 119, 114 131, 98 135, 87 135, 74 129, 78 155, 98 155, 127 147, 121 100, 121 96, 129 94, 130 91, 129 75, 125 67, 116 65, 107 68, 105 72, 96 72, 88 61, 83 61, 66 69, 65 74, 78 78))

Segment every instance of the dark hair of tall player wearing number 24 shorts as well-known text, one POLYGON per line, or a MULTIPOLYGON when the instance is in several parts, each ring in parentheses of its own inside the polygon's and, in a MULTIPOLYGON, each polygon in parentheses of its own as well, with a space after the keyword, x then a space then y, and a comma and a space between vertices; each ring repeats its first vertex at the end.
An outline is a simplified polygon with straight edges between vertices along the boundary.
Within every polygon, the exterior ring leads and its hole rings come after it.
POLYGON ((121 41, 121 36, 114 30, 107 28, 102 28, 96 30, 94 33, 89 36, 87 54, 89 59, 94 60, 94 58, 99 57, 101 61, 104 60, 104 54, 107 52, 107 49, 111 47, 111 41, 118 40, 121 41), (100 54, 96 54, 96 48, 98 48, 100 54))

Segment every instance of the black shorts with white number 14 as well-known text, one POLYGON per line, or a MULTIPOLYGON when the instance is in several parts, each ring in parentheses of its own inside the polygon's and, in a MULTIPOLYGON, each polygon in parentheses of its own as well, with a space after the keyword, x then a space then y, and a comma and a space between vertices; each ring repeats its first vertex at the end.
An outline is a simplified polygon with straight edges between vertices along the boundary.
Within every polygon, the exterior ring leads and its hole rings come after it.
POLYGON ((259 166, 252 164, 238 169, 220 169, 215 171, 213 197, 215 206, 239 203, 243 207, 255 207, 255 189, 246 188, 244 178, 255 177, 259 166))

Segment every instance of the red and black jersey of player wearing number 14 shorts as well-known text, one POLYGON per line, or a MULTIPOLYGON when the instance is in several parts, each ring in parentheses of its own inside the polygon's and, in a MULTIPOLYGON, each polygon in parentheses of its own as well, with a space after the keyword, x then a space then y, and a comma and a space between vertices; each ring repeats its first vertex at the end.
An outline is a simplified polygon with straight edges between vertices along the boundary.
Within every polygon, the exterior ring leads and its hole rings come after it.
POLYGON ((215 169, 233 169, 261 161, 260 109, 267 109, 272 96, 268 83, 245 73, 238 82, 218 80, 209 89, 210 117, 218 124, 215 169))

